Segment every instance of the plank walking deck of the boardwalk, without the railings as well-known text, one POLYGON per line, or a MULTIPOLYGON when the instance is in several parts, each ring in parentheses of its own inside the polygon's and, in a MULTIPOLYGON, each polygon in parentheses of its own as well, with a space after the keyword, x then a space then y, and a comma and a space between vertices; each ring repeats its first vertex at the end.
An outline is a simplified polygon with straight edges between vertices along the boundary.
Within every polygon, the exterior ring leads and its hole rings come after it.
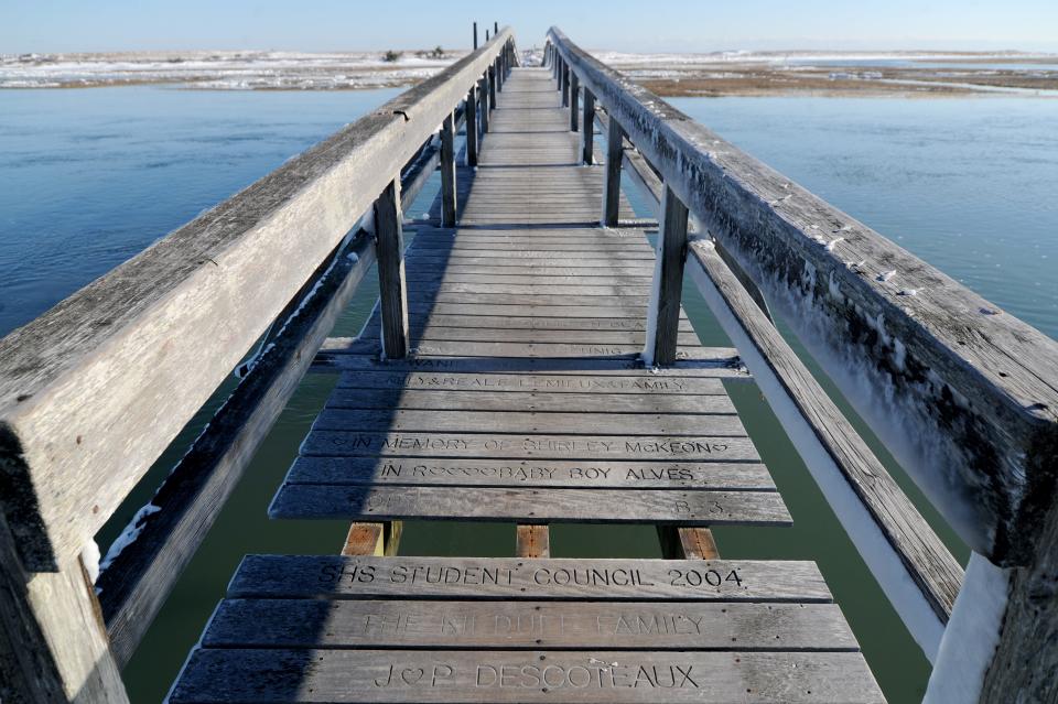
POLYGON ((732 351, 681 312, 679 361, 639 365, 654 250, 598 226, 603 170, 560 101, 549 71, 512 71, 458 227, 415 228, 411 357, 380 360, 377 311, 325 346, 341 379, 270 509, 542 543, 248 556, 172 702, 882 701, 812 563, 548 559, 549 522, 790 521, 725 393, 732 351))

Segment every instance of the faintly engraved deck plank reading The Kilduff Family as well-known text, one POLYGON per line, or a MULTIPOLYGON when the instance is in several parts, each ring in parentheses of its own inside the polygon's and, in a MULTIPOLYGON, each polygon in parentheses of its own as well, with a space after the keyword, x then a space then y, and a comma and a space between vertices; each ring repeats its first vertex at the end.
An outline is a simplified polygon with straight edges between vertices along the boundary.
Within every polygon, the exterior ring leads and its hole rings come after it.
POLYGON ((203 648, 857 651, 836 604, 225 599, 203 648))

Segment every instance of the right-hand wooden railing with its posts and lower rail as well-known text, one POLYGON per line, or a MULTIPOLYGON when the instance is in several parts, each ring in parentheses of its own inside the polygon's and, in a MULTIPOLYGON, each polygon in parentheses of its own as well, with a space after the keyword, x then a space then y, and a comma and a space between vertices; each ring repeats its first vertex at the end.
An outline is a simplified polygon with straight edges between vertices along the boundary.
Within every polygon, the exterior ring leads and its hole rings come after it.
POLYGON ((1052 695, 1058 344, 695 123, 557 28, 546 63, 571 127, 580 126, 589 145, 596 109, 605 112, 603 223, 617 225, 623 165, 657 204, 645 360, 676 358, 673 312, 687 266, 933 661, 927 698, 1052 695), (699 224, 691 236, 689 220, 699 224), (784 340, 767 306, 973 549, 961 592, 958 563, 784 340))

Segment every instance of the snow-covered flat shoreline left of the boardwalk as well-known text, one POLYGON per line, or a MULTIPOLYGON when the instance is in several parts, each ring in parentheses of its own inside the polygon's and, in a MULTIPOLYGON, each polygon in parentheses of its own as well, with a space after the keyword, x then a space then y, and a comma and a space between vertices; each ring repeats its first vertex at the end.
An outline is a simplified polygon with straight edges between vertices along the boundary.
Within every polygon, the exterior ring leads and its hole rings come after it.
POLYGON ((0 55, 0 88, 69 88, 143 83, 205 89, 350 89, 418 83, 464 52, 433 57, 382 52, 129 52, 0 55))

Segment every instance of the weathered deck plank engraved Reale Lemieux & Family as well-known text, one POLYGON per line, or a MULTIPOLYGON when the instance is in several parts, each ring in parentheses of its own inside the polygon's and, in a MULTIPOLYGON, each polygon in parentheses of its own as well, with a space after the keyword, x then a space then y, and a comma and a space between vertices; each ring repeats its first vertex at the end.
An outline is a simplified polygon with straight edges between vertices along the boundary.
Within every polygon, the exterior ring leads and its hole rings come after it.
MULTIPOLYGON (((583 370, 582 370, 583 371, 583 370)), ((444 389, 473 391, 535 391, 548 393, 592 394, 699 394, 723 396, 723 382, 711 369, 668 369, 665 373, 627 369, 591 373, 472 373, 421 372, 390 370, 380 365, 378 371, 348 371, 338 379, 339 389, 444 389)))

